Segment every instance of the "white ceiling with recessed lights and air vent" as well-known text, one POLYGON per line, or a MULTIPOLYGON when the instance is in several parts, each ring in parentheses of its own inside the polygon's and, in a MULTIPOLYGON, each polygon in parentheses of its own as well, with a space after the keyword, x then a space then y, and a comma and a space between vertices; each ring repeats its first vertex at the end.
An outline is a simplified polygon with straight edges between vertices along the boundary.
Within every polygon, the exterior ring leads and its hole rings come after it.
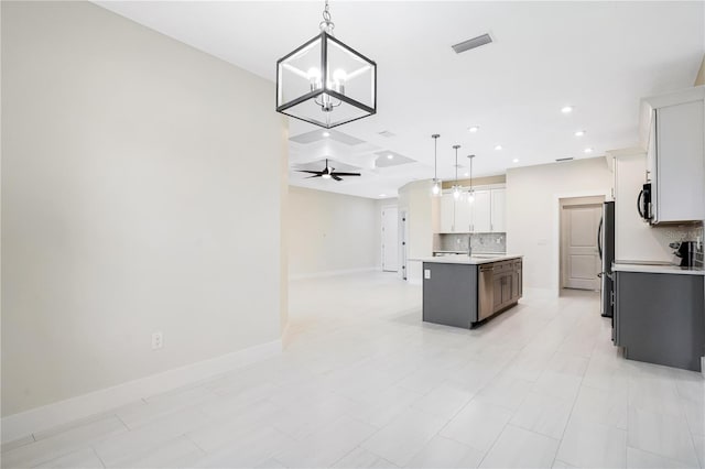
MULTIPOLYGON (((323 1, 98 3, 272 81, 276 59, 317 34, 323 9, 323 1)), ((290 142, 292 167, 330 157, 360 167, 361 177, 303 179, 292 171, 290 183, 365 197, 433 177, 432 133, 441 134, 444 179, 454 176, 455 143, 462 160, 477 155, 476 176, 632 146, 639 99, 692 86, 705 54, 703 1, 332 0, 330 12, 336 37, 378 64, 378 112, 336 128, 364 143, 290 142), (495 43, 451 50, 486 32, 495 43), (566 105, 571 114, 561 112, 566 105), (480 129, 469 133, 470 126, 480 129), (388 151, 417 163, 377 167, 388 151)), ((273 98, 262 102, 272 112, 273 98)), ((290 120, 290 137, 315 129, 290 120)))

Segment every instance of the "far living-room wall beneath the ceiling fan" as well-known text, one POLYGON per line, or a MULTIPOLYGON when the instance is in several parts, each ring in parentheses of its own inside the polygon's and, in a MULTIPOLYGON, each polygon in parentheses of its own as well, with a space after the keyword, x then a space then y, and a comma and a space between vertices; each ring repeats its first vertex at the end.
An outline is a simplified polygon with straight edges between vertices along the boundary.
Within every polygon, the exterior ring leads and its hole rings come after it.
POLYGON ((380 230, 375 199, 290 186, 290 277, 381 269, 380 230))

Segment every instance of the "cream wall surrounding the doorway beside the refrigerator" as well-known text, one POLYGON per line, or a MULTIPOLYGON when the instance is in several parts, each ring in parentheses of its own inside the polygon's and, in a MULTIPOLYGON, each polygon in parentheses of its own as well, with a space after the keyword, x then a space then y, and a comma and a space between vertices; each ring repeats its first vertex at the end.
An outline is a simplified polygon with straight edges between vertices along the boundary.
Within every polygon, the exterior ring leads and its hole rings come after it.
POLYGON ((608 196, 610 188, 604 157, 507 172, 507 252, 524 255, 525 287, 558 288, 558 199, 608 196))

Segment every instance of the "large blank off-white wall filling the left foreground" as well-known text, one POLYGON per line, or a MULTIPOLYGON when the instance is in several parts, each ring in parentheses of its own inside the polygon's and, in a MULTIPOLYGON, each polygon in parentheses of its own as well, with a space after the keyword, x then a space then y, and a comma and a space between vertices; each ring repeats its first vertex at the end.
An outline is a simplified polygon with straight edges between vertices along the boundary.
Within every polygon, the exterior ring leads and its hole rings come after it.
POLYGON ((273 95, 91 3, 2 2, 3 415, 280 338, 273 95))

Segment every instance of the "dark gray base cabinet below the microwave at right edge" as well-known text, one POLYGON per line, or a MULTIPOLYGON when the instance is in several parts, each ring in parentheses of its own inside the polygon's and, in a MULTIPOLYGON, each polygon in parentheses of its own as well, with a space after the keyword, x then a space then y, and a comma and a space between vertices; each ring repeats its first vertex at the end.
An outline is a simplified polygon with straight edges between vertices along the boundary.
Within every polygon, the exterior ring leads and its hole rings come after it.
POLYGON ((701 371, 703 277, 615 272, 615 345, 628 359, 701 371))

